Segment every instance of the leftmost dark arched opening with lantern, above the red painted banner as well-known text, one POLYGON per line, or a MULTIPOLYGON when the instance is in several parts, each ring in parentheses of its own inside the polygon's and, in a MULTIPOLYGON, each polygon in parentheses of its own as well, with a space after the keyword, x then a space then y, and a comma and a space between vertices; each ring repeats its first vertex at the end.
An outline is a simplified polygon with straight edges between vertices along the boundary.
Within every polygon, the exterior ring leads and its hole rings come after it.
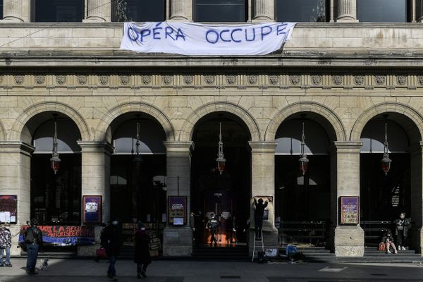
POLYGON ((30 216, 40 225, 80 225, 81 154, 78 126, 68 116, 48 111, 25 124, 23 140, 35 147, 30 160, 30 216), (51 168, 54 123, 60 167, 51 168))

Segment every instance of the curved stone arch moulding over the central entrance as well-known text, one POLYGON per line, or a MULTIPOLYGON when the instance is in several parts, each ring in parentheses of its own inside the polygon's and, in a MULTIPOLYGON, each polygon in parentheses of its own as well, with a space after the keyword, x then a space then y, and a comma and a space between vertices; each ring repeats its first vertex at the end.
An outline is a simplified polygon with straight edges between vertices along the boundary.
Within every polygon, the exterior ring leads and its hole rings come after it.
POLYGON ((255 119, 250 115, 250 113, 248 113, 247 110, 231 102, 212 102, 204 104, 203 106, 200 106, 200 108, 192 111, 190 116, 188 116, 185 120, 185 123, 183 123, 180 130, 179 140, 191 140, 195 124, 200 121, 200 118, 216 111, 226 111, 238 116, 238 118, 247 125, 248 130, 250 130, 251 141, 261 141, 259 125, 257 125, 255 119))

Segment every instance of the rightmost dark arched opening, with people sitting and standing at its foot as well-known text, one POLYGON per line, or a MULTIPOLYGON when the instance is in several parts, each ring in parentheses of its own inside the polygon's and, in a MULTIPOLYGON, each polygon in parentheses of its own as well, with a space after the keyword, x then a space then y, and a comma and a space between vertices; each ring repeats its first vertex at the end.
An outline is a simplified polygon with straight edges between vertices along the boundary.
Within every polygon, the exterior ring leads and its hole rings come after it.
MULTIPOLYGON (((416 175, 412 166, 416 164, 413 164, 410 152, 413 146, 420 147, 419 129, 410 118, 402 114, 379 114, 364 126, 361 142, 360 214, 364 244, 372 246, 380 242, 386 230, 390 229, 395 234, 396 226, 393 221, 399 218, 401 212, 405 212, 407 218, 413 221, 411 187, 412 178, 416 175), (392 161, 387 173, 381 168, 385 128, 389 158, 392 161)), ((421 183, 419 187, 421 189, 421 183)), ((412 244, 407 242, 406 245, 411 247, 412 244)))

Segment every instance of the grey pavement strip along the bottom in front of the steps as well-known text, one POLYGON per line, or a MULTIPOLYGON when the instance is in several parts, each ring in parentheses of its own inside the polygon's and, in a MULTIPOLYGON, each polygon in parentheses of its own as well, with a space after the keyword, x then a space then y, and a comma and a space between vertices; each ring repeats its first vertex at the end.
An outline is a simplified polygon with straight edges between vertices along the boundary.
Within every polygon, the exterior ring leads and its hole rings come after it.
MULTIPOLYGON (((47 271, 25 274, 25 259, 12 259, 13 267, 0 268, 1 282, 111 281, 107 262, 88 259, 51 259, 47 271)), ((38 260, 37 266, 40 264, 38 260)), ((422 281, 423 264, 286 264, 252 262, 154 261, 147 278, 137 279, 135 264, 118 260, 119 281, 151 282, 279 282, 279 281, 422 281)))

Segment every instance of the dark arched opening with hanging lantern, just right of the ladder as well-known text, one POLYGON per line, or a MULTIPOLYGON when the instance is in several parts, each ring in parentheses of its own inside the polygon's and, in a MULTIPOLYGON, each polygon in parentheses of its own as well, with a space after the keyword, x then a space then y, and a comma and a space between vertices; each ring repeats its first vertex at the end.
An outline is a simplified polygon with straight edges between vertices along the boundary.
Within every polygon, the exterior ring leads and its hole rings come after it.
POLYGON ((275 218, 279 243, 326 247, 331 224, 333 127, 312 112, 293 114, 276 131, 275 218), (302 140, 308 168, 302 172, 302 140))

